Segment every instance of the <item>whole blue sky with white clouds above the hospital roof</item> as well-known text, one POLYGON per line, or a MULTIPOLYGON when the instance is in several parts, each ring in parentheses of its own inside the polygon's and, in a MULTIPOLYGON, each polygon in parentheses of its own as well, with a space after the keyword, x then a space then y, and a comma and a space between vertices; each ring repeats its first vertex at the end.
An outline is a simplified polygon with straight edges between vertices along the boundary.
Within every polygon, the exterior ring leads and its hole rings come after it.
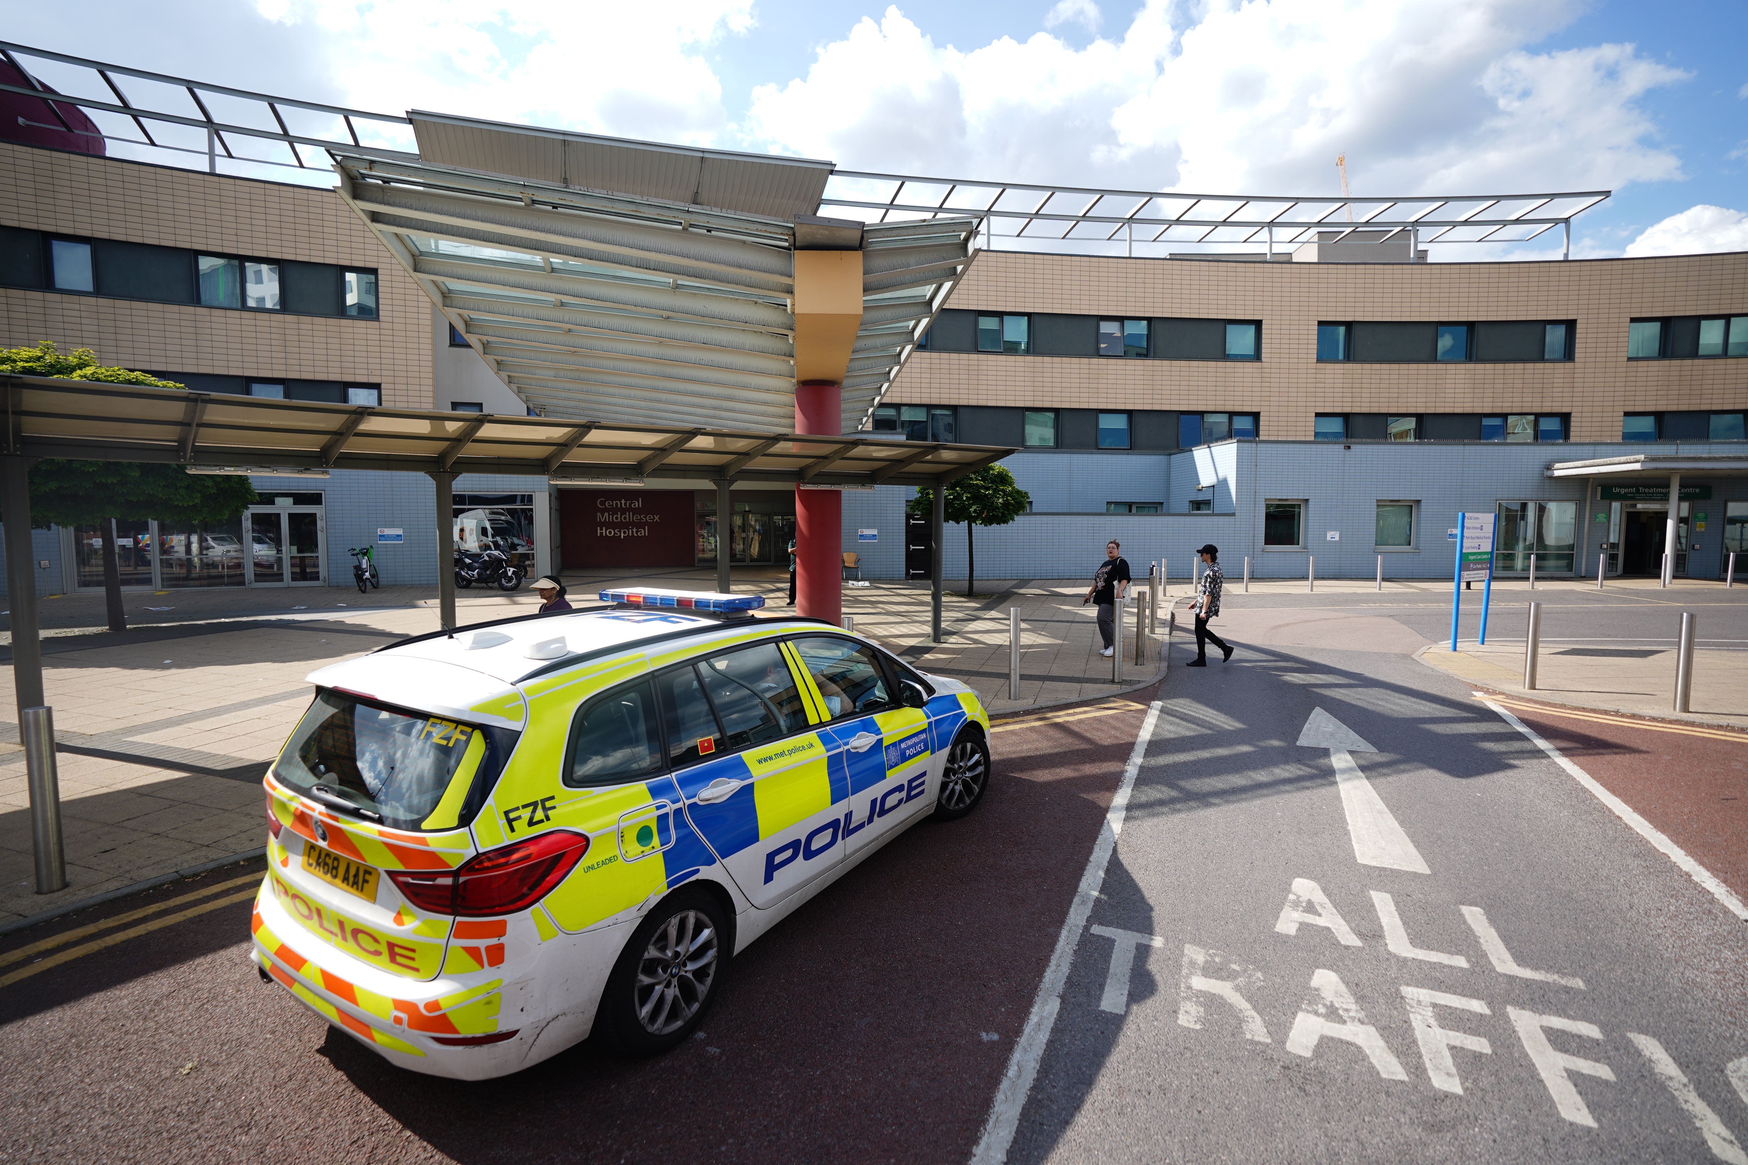
MULTIPOLYGON (((1573 257, 1748 250, 1743 0, 0 0, 0 37, 330 101, 1204 194, 1613 190, 1573 257)), ((45 72, 52 84, 52 72, 45 72)), ((96 94, 93 94, 96 96, 96 94)), ((1559 236, 1433 259, 1550 259, 1559 236)))

